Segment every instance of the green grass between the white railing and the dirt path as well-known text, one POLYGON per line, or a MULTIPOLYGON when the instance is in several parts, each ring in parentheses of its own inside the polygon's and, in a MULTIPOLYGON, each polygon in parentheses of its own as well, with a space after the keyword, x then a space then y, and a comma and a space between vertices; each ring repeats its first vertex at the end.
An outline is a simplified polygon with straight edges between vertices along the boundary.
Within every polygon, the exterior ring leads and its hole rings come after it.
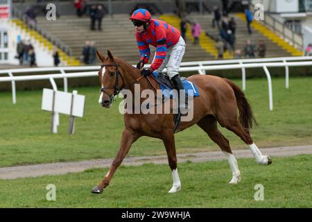
MULTIPOLYGON (((239 80, 235 83, 241 85, 239 80)), ((290 89, 284 78, 272 79, 274 111, 268 110, 266 78, 247 80, 246 95, 252 103, 259 127, 252 130, 261 147, 312 144, 312 80, 291 78, 290 89)), ((76 133, 69 135, 69 117, 60 116, 59 133, 50 133, 51 112, 41 110, 42 90, 17 92, 12 105, 10 92, 0 93, 0 167, 46 162, 64 162, 114 157, 119 148, 123 117, 118 104, 104 109, 98 105, 98 87, 78 88, 86 95, 85 117, 76 119, 76 133)), ((234 133, 222 129, 233 149, 246 148, 234 133)), ((219 150, 198 126, 175 135, 177 153, 219 150)), ((158 139, 142 137, 129 155, 166 155, 158 139)))

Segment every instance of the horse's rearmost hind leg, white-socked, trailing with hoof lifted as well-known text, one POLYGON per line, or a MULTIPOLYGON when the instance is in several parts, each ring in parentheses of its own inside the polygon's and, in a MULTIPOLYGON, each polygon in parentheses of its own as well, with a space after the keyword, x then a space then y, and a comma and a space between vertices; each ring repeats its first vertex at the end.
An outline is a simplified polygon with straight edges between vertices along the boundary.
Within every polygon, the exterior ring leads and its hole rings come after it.
POLYGON ((262 155, 259 148, 254 144, 252 138, 250 137, 250 133, 248 130, 245 130, 239 120, 227 121, 227 123, 220 123, 221 126, 225 126, 228 130, 231 130, 233 133, 241 137, 245 144, 248 144, 250 151, 254 155, 257 164, 269 165, 272 163, 272 160, 267 155, 262 155))

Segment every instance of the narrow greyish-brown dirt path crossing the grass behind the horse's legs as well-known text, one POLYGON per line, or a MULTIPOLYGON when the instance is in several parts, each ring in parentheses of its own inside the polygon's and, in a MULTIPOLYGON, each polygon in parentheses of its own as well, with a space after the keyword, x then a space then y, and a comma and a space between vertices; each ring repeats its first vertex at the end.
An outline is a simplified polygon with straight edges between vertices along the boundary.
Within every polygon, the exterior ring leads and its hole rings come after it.
MULTIPOLYGON (((233 151, 236 158, 253 157, 249 149, 233 151)), ((261 148, 263 155, 270 157, 281 157, 300 154, 312 154, 311 146, 286 146, 277 148, 261 148)), ((214 160, 225 160, 226 157, 221 151, 188 153, 177 155, 178 162, 205 162, 214 160)), ((274 158, 272 159, 274 164, 274 158)), ((20 167, 0 168, 0 179, 28 178, 45 175, 59 175, 65 173, 78 173, 86 169, 110 167, 112 159, 85 160, 79 162, 57 162, 52 164, 37 164, 20 167)), ((126 157, 123 160, 124 166, 137 166, 145 163, 167 164, 166 155, 145 156, 145 157, 126 157)))

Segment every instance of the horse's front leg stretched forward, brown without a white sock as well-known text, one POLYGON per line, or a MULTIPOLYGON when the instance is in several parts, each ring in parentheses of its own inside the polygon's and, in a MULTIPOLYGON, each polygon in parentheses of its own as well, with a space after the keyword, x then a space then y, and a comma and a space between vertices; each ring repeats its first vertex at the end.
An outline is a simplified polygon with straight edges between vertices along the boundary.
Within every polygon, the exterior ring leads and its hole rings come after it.
POLYGON ((112 179, 112 176, 114 176, 116 169, 120 166, 121 162, 125 158, 125 155, 127 155, 128 151, 130 150, 131 145, 138 138, 139 138, 139 135, 135 133, 134 131, 128 130, 128 129, 123 130, 123 135, 121 137, 121 144, 120 144, 119 151, 115 159, 113 160, 110 169, 106 173, 101 183, 92 189, 91 192, 93 194, 101 194, 103 192, 103 189, 110 184, 110 180, 112 179))

